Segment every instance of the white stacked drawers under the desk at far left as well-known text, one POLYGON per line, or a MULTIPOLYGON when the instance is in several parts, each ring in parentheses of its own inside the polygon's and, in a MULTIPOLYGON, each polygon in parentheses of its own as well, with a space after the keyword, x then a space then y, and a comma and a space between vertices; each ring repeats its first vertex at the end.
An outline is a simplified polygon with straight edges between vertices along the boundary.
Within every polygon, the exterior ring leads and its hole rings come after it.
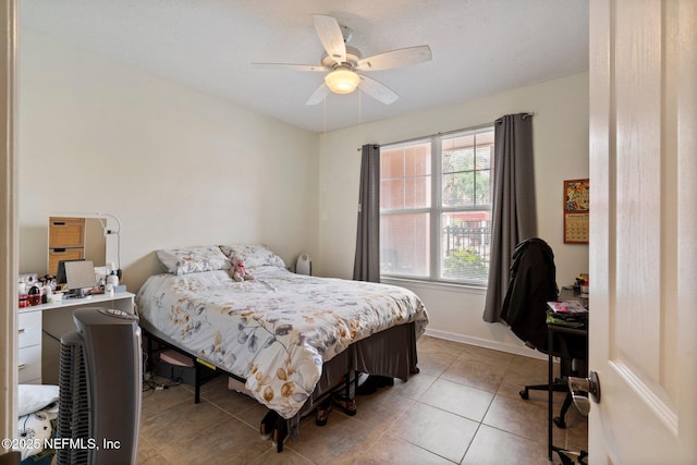
POLYGON ((20 383, 41 383, 41 311, 17 314, 17 369, 20 383))

